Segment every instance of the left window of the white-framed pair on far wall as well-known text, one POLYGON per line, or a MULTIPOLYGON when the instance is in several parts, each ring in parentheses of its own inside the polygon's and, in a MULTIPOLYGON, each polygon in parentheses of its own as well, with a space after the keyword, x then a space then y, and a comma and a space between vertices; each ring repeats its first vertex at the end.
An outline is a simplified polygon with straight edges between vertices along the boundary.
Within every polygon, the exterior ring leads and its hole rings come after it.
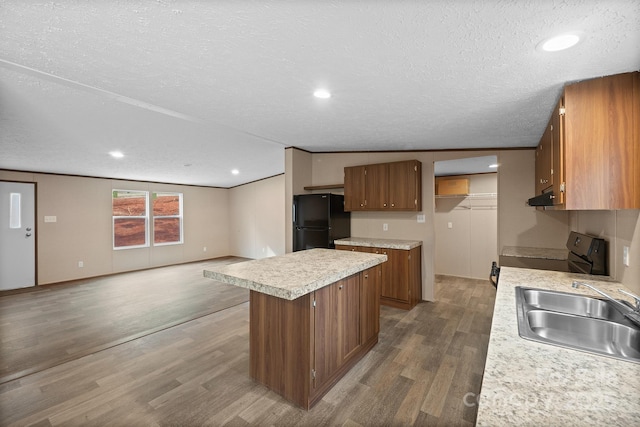
POLYGON ((114 190, 113 248, 149 246, 149 193, 147 191, 114 190))

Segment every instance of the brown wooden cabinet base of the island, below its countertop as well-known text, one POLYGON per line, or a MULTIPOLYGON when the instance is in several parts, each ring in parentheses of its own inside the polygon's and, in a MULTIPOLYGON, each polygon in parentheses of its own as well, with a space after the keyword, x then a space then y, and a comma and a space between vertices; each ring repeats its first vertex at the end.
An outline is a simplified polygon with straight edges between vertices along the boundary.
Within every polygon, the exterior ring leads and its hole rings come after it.
POLYGON ((377 342, 381 266, 295 300, 251 291, 250 374, 309 409, 377 342))

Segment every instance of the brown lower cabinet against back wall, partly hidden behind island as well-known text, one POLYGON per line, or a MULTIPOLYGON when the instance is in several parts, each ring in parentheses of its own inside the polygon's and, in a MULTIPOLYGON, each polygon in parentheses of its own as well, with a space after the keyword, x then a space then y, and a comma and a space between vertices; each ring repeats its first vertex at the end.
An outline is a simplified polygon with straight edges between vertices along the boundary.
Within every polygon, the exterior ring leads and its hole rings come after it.
POLYGON ((382 264, 380 304, 411 310, 422 299, 421 246, 405 250, 337 244, 336 249, 387 255, 382 264))

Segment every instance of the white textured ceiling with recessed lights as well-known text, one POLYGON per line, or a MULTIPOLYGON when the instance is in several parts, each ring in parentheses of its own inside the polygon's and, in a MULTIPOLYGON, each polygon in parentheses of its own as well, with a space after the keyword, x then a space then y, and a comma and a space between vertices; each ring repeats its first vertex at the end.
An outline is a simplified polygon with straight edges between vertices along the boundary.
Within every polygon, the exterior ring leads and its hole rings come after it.
POLYGON ((2 0, 0 168, 229 187, 289 146, 533 147, 639 46, 637 0, 2 0))

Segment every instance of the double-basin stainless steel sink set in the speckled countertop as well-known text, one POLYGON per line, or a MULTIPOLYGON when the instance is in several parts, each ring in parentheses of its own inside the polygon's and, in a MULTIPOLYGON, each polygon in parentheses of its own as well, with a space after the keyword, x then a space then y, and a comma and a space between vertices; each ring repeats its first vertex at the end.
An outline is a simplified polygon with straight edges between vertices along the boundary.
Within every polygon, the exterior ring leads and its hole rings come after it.
POLYGON ((607 300, 516 287, 522 338, 640 363, 640 327, 607 300))

